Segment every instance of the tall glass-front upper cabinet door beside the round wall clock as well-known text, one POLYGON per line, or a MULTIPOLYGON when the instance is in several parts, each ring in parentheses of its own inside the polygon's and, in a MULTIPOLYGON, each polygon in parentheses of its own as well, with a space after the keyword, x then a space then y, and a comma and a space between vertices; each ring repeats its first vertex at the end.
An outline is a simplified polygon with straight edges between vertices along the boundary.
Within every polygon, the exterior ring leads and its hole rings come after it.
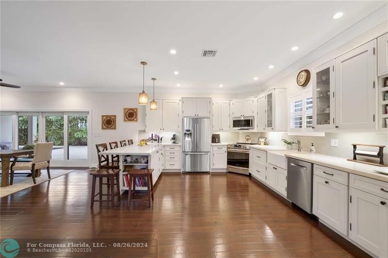
POLYGON ((334 128, 335 126, 335 76, 332 60, 312 70, 313 116, 312 128, 334 128))

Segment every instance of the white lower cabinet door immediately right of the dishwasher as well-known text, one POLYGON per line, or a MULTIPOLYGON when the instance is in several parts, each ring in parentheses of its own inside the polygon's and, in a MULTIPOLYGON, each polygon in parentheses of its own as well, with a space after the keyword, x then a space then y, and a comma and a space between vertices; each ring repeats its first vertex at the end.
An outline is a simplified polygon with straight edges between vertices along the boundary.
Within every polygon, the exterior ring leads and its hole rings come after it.
POLYGON ((314 175, 312 196, 313 214, 347 235, 348 186, 314 175))

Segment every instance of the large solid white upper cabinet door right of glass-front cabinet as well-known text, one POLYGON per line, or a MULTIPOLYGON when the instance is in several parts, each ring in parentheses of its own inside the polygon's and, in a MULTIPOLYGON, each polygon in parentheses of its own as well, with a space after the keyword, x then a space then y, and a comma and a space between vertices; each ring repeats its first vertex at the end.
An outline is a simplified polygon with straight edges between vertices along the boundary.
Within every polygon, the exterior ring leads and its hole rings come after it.
POLYGON ((336 59, 336 126, 375 128, 376 56, 371 41, 336 59))

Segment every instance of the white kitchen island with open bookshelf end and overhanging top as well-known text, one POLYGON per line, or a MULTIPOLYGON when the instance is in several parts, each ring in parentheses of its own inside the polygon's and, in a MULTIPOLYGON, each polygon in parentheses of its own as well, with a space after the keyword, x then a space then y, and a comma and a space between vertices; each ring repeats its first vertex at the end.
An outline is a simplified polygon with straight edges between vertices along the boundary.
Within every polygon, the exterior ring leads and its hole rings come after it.
MULTIPOLYGON (((126 166, 136 169, 153 168, 153 184, 156 183, 164 167, 163 144, 149 144, 140 146, 138 144, 123 146, 101 152, 102 155, 118 155, 120 165, 120 192, 129 190, 123 175, 126 166)), ((136 190, 146 190, 146 186, 137 186, 136 190)))

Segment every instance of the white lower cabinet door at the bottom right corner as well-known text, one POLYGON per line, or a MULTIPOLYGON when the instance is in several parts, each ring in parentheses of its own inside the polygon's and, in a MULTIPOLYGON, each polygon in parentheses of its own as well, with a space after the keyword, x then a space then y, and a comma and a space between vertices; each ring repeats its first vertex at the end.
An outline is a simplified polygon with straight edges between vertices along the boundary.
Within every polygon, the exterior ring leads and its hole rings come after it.
POLYGON ((388 257, 388 200, 350 188, 349 237, 378 257, 388 257))

